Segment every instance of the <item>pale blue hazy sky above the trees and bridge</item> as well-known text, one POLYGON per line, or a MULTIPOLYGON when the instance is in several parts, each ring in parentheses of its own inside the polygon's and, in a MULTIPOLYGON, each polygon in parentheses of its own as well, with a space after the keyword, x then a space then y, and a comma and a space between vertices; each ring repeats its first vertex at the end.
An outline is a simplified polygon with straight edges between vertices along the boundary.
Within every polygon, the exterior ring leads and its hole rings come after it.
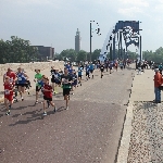
MULTIPOLYGON (((163 43, 162 15, 163 0, 0 0, 0 39, 17 36, 60 53, 75 49, 78 28, 82 50, 89 52, 90 21, 101 32, 101 36, 92 34, 92 51, 102 48, 116 22, 140 21, 142 51, 155 51, 163 43)), ((134 46, 128 49, 136 50, 134 46)))

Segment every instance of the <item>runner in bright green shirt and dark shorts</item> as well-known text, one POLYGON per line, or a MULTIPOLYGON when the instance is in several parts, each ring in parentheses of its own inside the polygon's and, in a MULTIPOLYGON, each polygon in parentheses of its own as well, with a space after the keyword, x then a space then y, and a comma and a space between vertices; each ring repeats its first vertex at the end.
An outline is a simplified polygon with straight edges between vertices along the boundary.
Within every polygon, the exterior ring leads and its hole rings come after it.
POLYGON ((36 83, 36 104, 38 103, 38 92, 42 87, 42 75, 40 74, 40 70, 35 70, 36 75, 34 82, 36 83))

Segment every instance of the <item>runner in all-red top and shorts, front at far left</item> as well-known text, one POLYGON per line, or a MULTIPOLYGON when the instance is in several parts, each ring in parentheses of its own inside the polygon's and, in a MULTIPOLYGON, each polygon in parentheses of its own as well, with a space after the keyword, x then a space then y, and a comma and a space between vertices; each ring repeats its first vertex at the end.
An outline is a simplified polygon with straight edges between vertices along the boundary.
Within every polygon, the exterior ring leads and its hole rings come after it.
POLYGON ((7 106, 7 115, 10 115, 10 109, 13 102, 13 85, 10 83, 10 77, 5 76, 4 78, 4 104, 7 106), (9 102, 9 103, 8 103, 9 102), (10 104, 10 105, 9 105, 10 104))

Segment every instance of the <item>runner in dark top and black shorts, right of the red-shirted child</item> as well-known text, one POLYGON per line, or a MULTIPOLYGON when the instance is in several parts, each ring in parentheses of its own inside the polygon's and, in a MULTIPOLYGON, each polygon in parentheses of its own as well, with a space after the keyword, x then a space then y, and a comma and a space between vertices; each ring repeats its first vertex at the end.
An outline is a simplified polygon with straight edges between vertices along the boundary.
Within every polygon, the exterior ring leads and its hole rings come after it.
POLYGON ((63 97, 66 101, 66 110, 68 110, 70 91, 72 85, 72 76, 68 74, 68 70, 64 68, 64 74, 61 76, 61 83, 63 88, 63 97))

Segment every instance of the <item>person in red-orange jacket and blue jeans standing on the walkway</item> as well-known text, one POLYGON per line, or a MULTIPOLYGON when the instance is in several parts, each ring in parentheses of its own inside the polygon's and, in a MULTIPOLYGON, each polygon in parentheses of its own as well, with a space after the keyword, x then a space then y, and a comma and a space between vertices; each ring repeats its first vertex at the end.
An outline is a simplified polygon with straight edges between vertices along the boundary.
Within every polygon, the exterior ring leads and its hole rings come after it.
POLYGON ((153 100, 154 103, 161 103, 161 85, 162 85, 162 75, 159 72, 159 68, 154 70, 155 75, 154 75, 154 93, 155 93, 155 99, 153 100))

